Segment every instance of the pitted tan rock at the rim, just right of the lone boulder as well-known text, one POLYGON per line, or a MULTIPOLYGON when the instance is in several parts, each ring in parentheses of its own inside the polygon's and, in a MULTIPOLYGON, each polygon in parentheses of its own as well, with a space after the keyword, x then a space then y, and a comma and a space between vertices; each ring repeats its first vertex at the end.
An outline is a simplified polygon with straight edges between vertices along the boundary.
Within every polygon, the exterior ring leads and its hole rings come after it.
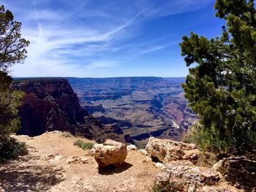
POLYGON ((146 150, 151 156, 165 163, 187 160, 196 164, 198 155, 200 154, 200 151, 196 149, 195 145, 154 137, 149 138, 146 150))

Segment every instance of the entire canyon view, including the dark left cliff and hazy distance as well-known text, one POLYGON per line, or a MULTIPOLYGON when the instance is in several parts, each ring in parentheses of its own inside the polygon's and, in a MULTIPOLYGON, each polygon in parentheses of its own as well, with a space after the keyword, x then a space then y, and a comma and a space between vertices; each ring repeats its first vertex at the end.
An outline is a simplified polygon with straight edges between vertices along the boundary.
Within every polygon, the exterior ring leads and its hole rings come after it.
POLYGON ((184 98, 183 77, 16 78, 26 93, 18 134, 69 131, 145 147, 149 137, 180 140, 198 120, 184 98))

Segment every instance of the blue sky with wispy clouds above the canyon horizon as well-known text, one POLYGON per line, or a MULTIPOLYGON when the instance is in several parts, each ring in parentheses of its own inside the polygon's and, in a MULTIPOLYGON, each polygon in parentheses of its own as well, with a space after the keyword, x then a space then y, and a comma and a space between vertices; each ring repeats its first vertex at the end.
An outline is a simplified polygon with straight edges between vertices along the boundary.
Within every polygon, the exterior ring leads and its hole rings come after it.
POLYGON ((1 0, 29 39, 13 77, 184 77, 179 43, 221 34, 214 0, 1 0))

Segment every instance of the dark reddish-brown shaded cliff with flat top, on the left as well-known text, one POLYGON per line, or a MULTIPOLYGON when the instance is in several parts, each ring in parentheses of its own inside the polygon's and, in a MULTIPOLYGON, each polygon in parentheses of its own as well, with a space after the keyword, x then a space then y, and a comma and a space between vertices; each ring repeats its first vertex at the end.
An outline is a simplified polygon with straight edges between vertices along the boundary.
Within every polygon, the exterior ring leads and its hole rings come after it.
POLYGON ((87 115, 78 96, 64 79, 15 80, 12 90, 26 93, 19 108, 21 128, 18 134, 37 136, 45 131, 70 131, 75 134, 87 115))

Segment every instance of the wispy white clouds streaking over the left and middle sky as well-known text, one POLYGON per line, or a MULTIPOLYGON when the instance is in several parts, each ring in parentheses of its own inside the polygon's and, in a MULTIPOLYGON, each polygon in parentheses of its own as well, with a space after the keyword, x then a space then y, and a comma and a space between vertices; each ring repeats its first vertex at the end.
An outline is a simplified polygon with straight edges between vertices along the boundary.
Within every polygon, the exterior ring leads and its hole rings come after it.
POLYGON ((7 1, 3 4, 23 23, 29 39, 25 64, 14 66, 15 76, 93 76, 114 68, 126 58, 163 50, 160 37, 128 43, 153 18, 199 9, 211 0, 73 0, 7 1), (58 4, 59 2, 59 4, 58 4), (58 4, 58 6, 56 6, 58 4))

